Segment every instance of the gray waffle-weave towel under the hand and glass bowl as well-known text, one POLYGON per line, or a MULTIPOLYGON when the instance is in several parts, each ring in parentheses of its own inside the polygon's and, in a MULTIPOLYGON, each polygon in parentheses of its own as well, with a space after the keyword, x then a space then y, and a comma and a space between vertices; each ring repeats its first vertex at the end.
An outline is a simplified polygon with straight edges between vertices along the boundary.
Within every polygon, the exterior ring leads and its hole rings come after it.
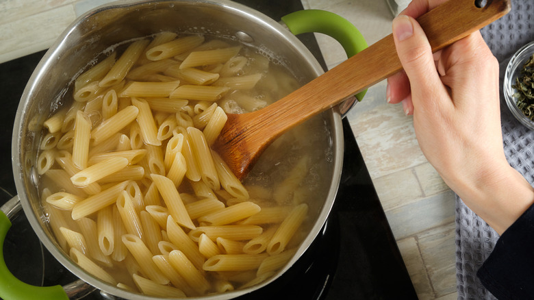
MULTIPOLYGON (((490 1, 487 1, 490 2, 490 1)), ((521 125, 503 99, 503 78, 511 56, 534 41, 534 0, 511 0, 512 10, 481 29, 487 45, 500 63, 500 114, 507 160, 534 184, 534 132, 521 125)), ((483 103, 484 99, 480 99, 483 103)), ((483 111, 483 110, 482 110, 483 111)), ((456 197, 456 277, 458 299, 496 299, 476 277, 476 271, 492 252, 498 234, 461 199, 456 197)))

